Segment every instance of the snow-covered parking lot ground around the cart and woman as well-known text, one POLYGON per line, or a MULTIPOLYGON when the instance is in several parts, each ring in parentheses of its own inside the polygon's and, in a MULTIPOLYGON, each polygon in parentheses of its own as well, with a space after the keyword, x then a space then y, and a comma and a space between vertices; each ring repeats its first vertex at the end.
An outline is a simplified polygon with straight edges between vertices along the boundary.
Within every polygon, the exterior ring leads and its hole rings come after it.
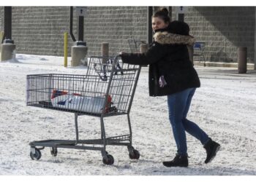
MULTIPOLYGON (((69 58, 70 60, 70 58, 69 58)), ((113 165, 103 165, 99 151, 59 149, 57 157, 42 150, 39 161, 29 157, 29 142, 75 140, 74 114, 26 106, 27 74, 85 74, 86 67, 64 68, 63 58, 16 55, 0 62, 0 175, 256 175, 256 72, 234 68, 195 67, 201 81, 188 118, 221 144, 217 157, 204 164, 206 152, 187 135, 189 167, 167 168, 176 146, 167 116, 167 98, 148 97, 148 68, 143 68, 130 113, 135 149, 129 159, 124 146, 107 146, 113 165)), ((80 138, 100 136, 99 118, 80 116, 80 138)), ((127 134, 123 117, 109 117, 107 136, 127 134)))

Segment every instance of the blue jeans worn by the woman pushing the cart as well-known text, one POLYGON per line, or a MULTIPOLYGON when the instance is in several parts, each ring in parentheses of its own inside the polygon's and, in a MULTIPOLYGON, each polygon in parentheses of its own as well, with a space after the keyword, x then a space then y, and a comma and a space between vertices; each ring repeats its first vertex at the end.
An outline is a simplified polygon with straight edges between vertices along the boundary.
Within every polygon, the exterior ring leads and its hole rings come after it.
POLYGON ((197 138, 202 144, 208 141, 208 135, 194 122, 187 119, 187 113, 195 88, 189 88, 172 95, 167 95, 170 124, 173 128, 173 136, 176 141, 177 153, 187 155, 186 132, 197 138))

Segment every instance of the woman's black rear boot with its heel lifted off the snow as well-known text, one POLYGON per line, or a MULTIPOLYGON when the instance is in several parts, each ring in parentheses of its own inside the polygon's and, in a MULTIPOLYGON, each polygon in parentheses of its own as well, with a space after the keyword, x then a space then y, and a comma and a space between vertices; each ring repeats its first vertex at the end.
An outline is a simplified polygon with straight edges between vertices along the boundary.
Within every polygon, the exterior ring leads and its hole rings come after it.
POLYGON ((219 151, 219 143, 212 141, 211 138, 209 139, 208 142, 206 142, 206 144, 204 144, 203 148, 206 149, 206 160, 205 163, 207 164, 208 162, 211 162, 212 159, 214 159, 214 157, 217 154, 217 151, 219 151))

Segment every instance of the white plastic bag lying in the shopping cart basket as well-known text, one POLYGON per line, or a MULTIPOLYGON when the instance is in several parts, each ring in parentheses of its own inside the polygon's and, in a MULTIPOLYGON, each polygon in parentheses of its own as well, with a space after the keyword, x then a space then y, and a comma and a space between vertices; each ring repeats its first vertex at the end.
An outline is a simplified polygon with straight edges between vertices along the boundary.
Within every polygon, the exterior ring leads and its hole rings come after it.
POLYGON ((60 95, 51 99, 55 108, 65 108, 92 114, 101 114, 105 97, 85 97, 80 95, 60 95))

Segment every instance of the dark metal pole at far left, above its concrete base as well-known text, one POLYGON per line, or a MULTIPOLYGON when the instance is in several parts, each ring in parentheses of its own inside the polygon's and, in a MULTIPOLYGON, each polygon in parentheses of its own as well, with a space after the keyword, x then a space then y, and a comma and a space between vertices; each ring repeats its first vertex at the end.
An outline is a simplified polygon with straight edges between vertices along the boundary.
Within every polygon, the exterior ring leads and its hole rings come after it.
POLYGON ((5 39, 12 39, 12 7, 4 7, 5 39))

